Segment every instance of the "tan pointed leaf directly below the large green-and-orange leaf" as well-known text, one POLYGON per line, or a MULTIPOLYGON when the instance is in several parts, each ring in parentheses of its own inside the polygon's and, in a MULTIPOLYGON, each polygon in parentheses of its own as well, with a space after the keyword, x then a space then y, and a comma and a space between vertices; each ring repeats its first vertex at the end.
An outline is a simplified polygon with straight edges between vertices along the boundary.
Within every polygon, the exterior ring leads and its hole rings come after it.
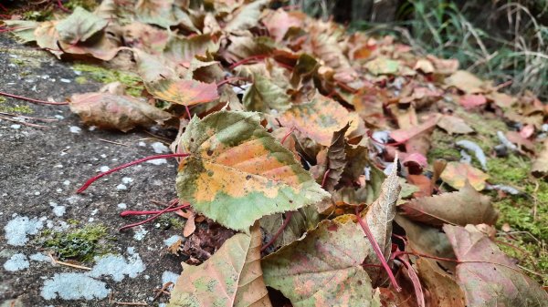
POLYGON ((256 224, 250 234, 228 239, 201 265, 184 265, 168 306, 272 306, 260 266, 261 241, 256 224))

